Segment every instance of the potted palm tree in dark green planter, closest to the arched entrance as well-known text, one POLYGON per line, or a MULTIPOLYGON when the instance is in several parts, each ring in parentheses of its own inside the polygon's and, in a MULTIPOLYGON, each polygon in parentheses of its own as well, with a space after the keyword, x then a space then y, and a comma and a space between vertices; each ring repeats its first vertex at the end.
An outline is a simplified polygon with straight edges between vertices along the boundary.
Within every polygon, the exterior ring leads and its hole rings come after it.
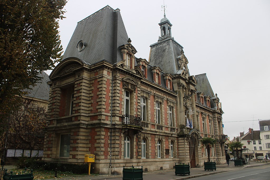
POLYGON ((216 162, 210 162, 210 150, 212 147, 214 147, 216 143, 216 139, 209 138, 209 137, 203 137, 201 138, 201 148, 206 148, 207 150, 207 156, 208 156, 208 161, 204 162, 204 171, 205 170, 215 170, 216 171, 216 162))

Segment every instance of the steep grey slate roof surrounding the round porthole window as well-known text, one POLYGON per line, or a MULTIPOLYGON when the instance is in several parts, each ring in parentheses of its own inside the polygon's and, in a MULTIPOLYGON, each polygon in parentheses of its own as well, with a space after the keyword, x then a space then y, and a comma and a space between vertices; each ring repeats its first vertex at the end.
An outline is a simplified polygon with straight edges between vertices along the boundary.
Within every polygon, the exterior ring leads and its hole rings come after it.
POLYGON ((127 43, 128 36, 120 9, 105 6, 77 23, 68 43, 63 60, 76 57, 90 64, 106 60, 112 64, 123 60, 119 46, 127 43), (83 41, 85 48, 78 51, 77 44, 83 41))

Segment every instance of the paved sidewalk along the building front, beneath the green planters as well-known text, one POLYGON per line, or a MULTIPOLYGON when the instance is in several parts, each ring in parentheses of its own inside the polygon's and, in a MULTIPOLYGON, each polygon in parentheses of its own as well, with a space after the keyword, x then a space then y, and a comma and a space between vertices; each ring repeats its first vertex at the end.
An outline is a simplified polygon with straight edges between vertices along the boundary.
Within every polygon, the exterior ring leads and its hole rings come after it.
MULTIPOLYGON (((150 172, 143 172, 143 179, 145 180, 182 180, 182 179, 190 179, 200 176, 206 176, 210 174, 216 174, 226 171, 233 171, 237 169, 242 168, 250 168, 255 166, 263 166, 263 165, 269 165, 269 163, 262 163, 262 162, 252 162, 250 161, 250 164, 244 165, 244 166, 234 166, 234 162, 230 162, 230 166, 227 164, 222 165, 216 165, 217 171, 204 171, 204 168, 191 168, 190 169, 190 175, 175 175, 174 169, 168 169, 168 170, 160 170, 160 171, 150 171, 150 172)), ((59 180, 122 180, 123 175, 96 175, 96 176, 67 176, 66 178, 59 178, 59 180)), ((54 180, 57 180, 58 178, 54 178, 54 180)), ((50 179, 52 180, 52 179, 50 179)))

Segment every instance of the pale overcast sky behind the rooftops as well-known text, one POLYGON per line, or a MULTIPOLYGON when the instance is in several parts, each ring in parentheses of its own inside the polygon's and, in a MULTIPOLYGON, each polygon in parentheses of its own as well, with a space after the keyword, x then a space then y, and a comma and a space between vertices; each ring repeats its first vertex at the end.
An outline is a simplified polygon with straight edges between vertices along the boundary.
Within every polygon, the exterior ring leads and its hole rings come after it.
MULTIPOLYGON (((63 50, 77 22, 106 5, 120 9, 136 57, 148 60, 149 46, 160 36, 163 0, 69 0, 59 28, 63 50)), ((224 134, 232 140, 249 127, 259 130, 258 119, 270 118, 270 1, 165 0, 165 5, 190 74, 206 73, 218 94, 224 134)))

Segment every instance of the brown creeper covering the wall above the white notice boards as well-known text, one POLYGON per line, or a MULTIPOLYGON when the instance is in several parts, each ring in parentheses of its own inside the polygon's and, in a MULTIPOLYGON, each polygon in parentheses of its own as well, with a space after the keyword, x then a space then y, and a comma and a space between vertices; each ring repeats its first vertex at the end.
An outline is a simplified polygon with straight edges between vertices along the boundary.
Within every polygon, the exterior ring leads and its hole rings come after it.
MULTIPOLYGON (((47 108, 31 99, 17 98, 16 110, 8 124, 7 147, 12 149, 43 149, 44 128, 47 108)), ((6 136, 2 135, 0 150, 3 150, 6 136)))

